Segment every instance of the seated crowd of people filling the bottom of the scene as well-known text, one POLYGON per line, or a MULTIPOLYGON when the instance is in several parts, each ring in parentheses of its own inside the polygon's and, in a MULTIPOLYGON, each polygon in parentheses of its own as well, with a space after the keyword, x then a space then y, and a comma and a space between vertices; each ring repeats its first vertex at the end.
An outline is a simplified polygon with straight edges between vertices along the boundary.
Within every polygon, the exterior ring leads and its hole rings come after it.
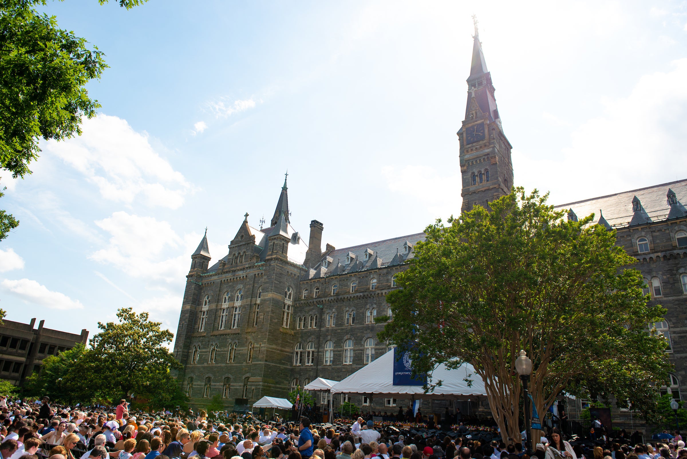
POLYGON ((559 429, 534 449, 506 444, 495 428, 447 431, 375 425, 357 418, 311 424, 251 414, 129 412, 0 399, 0 459, 687 459, 682 438, 621 445, 567 441, 559 429))

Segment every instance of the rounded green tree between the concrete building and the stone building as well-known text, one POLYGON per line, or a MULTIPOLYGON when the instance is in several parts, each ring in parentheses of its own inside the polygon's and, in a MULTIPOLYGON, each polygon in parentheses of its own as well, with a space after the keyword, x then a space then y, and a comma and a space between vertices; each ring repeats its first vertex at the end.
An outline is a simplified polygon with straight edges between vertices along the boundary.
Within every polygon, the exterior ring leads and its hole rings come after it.
POLYGON ((167 346, 174 335, 160 328, 160 322, 150 322, 148 313, 137 314, 131 308, 117 311, 119 322, 98 322, 100 332, 89 342, 85 353, 69 372, 67 381, 91 381, 102 388, 110 400, 135 394, 140 398, 163 403, 164 396, 174 393, 176 382, 170 370, 180 370, 167 346))

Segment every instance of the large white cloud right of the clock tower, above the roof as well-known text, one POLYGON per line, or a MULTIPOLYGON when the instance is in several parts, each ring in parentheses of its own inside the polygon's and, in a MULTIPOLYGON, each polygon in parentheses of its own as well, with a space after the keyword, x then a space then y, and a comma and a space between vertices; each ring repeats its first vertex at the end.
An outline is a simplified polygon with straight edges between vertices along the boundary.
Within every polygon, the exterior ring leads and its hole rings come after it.
POLYGON ((560 153, 541 159, 514 150, 516 183, 555 190, 552 199, 566 203, 686 177, 687 58, 672 67, 642 76, 627 97, 602 100, 560 153), (561 187, 562 177, 575 186, 561 187))

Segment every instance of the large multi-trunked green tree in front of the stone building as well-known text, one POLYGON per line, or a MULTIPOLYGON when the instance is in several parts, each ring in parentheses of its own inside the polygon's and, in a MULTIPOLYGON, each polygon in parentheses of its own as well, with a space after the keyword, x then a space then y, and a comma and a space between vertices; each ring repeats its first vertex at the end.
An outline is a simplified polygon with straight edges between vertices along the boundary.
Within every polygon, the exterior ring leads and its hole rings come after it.
POLYGON ((669 368, 664 338, 647 329, 666 310, 647 304, 642 276, 626 268, 635 260, 616 247, 614 231, 590 225, 592 216, 567 221, 547 197, 517 188, 491 212, 477 205, 428 226, 396 277, 403 288, 386 297, 393 320, 379 334, 411 352, 416 373, 471 363, 467 379, 484 381, 504 441, 519 434, 521 349, 533 362, 539 413, 569 386, 595 385, 627 406, 669 368), (628 378, 598 377, 617 370, 628 378))

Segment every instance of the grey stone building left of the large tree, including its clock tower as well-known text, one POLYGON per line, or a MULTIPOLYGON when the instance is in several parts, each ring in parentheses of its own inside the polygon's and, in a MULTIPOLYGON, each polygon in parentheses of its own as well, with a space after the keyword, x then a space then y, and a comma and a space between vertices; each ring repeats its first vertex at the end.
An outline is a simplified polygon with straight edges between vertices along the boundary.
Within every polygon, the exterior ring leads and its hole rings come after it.
MULTIPOLYGON (((458 131, 463 208, 486 205, 513 184, 510 144, 476 31, 467 82, 458 131)), ((322 247, 323 223, 311 222, 306 242, 289 215, 284 180, 269 227, 252 226, 246 214, 221 260, 210 266, 207 236, 192 255, 174 345, 192 405, 215 394, 227 405, 283 397, 317 377, 341 380, 387 351, 374 318, 388 315, 385 295, 424 234, 322 247)), ((372 403, 397 409, 393 400, 372 403)))

